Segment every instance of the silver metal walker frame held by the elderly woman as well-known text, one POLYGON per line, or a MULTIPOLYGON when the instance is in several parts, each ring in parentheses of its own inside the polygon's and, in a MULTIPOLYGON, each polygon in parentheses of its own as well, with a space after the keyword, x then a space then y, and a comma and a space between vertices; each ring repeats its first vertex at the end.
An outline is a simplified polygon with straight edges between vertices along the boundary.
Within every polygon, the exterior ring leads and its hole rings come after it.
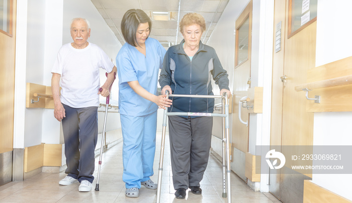
POLYGON ((229 149, 229 101, 227 93, 224 96, 215 95, 178 95, 168 94, 166 91, 166 99, 168 97, 192 97, 192 98, 221 98, 222 99, 222 113, 194 113, 194 112, 167 112, 167 107, 164 110, 164 116, 162 121, 162 136, 161 136, 161 149, 160 149, 160 161, 159 161, 159 173, 158 173, 158 186, 156 190, 156 203, 160 202, 160 191, 161 191, 161 178, 162 178, 162 163, 164 158, 164 144, 165 144, 165 132, 166 132, 166 120, 167 116, 213 116, 222 117, 223 129, 222 129, 222 179, 223 179, 223 191, 222 197, 227 197, 227 202, 231 203, 231 180, 230 180, 230 149, 229 149), (224 128, 225 124, 225 128, 224 128), (225 135, 226 134, 226 135, 225 135), (225 162, 225 151, 226 151, 226 162, 225 162), (225 175, 226 172, 226 175, 225 175), (226 184, 227 183, 227 184, 226 184), (226 193, 227 185, 227 193, 226 193))

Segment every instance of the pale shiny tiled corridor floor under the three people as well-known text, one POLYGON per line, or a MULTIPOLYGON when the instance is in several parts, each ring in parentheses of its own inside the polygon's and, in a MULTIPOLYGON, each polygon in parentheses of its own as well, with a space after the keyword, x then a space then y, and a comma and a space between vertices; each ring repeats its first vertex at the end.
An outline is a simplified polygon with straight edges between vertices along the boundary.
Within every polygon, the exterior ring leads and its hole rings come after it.
MULTIPOLYGON (((155 174, 151 177, 154 182, 157 182, 160 143, 161 133, 158 132, 154 160, 155 174)), ((97 155, 95 177, 98 174, 98 161, 99 156, 97 155)), ((174 198, 169 141, 166 136, 160 202, 227 202, 227 198, 222 198, 221 165, 213 155, 210 155, 208 167, 201 181, 203 194, 196 195, 188 190, 186 199, 174 198)), ((103 154, 100 191, 94 190, 97 178, 93 182, 91 192, 78 192, 78 182, 66 186, 58 184, 58 181, 66 176, 65 173, 42 172, 23 182, 10 182, 0 186, 0 202, 156 202, 156 190, 147 189, 144 186, 139 190, 139 197, 126 197, 122 172, 122 142, 120 142, 109 147, 103 154)), ((232 202, 280 202, 270 193, 253 191, 234 173, 231 174, 231 193, 232 202)))

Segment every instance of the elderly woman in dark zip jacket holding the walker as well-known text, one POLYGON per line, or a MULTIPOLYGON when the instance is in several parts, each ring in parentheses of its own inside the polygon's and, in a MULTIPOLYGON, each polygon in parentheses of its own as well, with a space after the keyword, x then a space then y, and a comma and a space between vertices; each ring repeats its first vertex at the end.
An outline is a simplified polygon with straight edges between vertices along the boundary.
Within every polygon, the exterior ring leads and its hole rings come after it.
MULTIPOLYGON (((212 47, 202 44, 205 20, 200 14, 183 17, 180 31, 184 40, 165 54, 159 83, 162 94, 214 95, 211 77, 220 94, 229 96, 229 80, 212 47)), ((214 99, 173 97, 168 112, 212 113, 214 99)), ((169 116, 169 137, 173 187, 176 198, 185 198, 186 190, 201 194, 200 181, 208 164, 213 125, 212 117, 169 116)))

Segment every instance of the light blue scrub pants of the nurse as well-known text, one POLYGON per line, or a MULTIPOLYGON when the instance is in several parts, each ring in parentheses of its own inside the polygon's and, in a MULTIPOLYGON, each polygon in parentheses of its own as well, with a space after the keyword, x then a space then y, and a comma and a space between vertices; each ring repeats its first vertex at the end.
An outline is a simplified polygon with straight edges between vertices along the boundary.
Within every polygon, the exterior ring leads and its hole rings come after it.
POLYGON ((126 188, 150 179, 155 155, 157 112, 145 116, 120 115, 123 137, 123 175, 126 188))

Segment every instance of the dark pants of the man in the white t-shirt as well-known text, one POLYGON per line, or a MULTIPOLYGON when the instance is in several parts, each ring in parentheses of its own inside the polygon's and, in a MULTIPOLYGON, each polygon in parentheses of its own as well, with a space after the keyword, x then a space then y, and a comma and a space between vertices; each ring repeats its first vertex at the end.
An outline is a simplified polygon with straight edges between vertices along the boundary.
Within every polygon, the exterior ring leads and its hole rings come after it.
POLYGON ((91 183, 98 139, 98 107, 72 108, 63 104, 66 117, 62 119, 67 169, 65 173, 91 183))

